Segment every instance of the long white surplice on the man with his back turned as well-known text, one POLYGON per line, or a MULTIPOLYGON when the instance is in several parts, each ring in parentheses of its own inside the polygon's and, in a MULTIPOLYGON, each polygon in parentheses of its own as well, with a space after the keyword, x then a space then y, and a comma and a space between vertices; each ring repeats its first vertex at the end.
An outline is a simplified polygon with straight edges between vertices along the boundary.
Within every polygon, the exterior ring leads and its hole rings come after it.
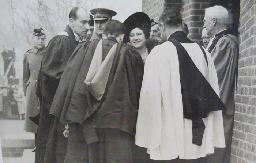
MULTIPOLYGON (((216 70, 210 54, 207 63, 196 43, 181 43, 196 67, 219 95, 216 70)), ((148 55, 140 94, 136 145, 147 148, 154 160, 196 159, 225 147, 222 111, 203 118, 202 145, 192 144, 192 120, 183 118, 183 105, 176 47, 172 42, 155 46, 148 55)))

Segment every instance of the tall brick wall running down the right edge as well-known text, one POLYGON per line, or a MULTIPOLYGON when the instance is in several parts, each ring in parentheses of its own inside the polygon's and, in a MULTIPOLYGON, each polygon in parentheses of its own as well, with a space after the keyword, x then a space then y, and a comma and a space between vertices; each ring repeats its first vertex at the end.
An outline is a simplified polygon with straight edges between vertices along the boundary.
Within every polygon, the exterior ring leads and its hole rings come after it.
POLYGON ((232 163, 256 162, 256 40, 255 2, 240 0, 240 58, 232 163))

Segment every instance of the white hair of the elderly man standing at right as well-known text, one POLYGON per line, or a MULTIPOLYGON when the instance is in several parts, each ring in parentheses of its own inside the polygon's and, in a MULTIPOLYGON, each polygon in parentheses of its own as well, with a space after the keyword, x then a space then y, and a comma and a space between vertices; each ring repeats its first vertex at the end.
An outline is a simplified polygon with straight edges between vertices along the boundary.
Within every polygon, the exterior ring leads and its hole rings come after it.
POLYGON ((209 16, 211 19, 216 18, 217 22, 220 24, 228 25, 229 13, 227 12, 227 9, 222 6, 215 5, 206 8, 205 15, 209 16))

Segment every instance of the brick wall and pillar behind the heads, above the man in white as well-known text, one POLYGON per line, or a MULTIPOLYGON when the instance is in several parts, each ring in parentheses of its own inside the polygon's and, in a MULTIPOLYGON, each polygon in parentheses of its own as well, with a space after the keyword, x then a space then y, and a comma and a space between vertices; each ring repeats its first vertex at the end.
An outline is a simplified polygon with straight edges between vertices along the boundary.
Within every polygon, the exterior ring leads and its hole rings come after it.
POLYGON ((188 25, 188 38, 202 41, 204 9, 210 6, 210 0, 142 0, 142 12, 150 19, 158 20, 165 8, 181 11, 183 21, 188 25))

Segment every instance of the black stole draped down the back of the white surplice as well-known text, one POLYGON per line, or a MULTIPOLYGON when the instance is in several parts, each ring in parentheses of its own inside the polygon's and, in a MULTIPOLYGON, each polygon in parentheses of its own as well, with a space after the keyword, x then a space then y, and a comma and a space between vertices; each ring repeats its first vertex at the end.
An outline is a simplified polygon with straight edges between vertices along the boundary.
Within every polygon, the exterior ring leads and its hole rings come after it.
POLYGON ((181 31, 170 35, 168 41, 173 43, 178 54, 183 117, 192 120, 192 143, 201 146, 205 129, 202 118, 210 111, 225 110, 226 106, 180 44, 194 42, 181 31))

